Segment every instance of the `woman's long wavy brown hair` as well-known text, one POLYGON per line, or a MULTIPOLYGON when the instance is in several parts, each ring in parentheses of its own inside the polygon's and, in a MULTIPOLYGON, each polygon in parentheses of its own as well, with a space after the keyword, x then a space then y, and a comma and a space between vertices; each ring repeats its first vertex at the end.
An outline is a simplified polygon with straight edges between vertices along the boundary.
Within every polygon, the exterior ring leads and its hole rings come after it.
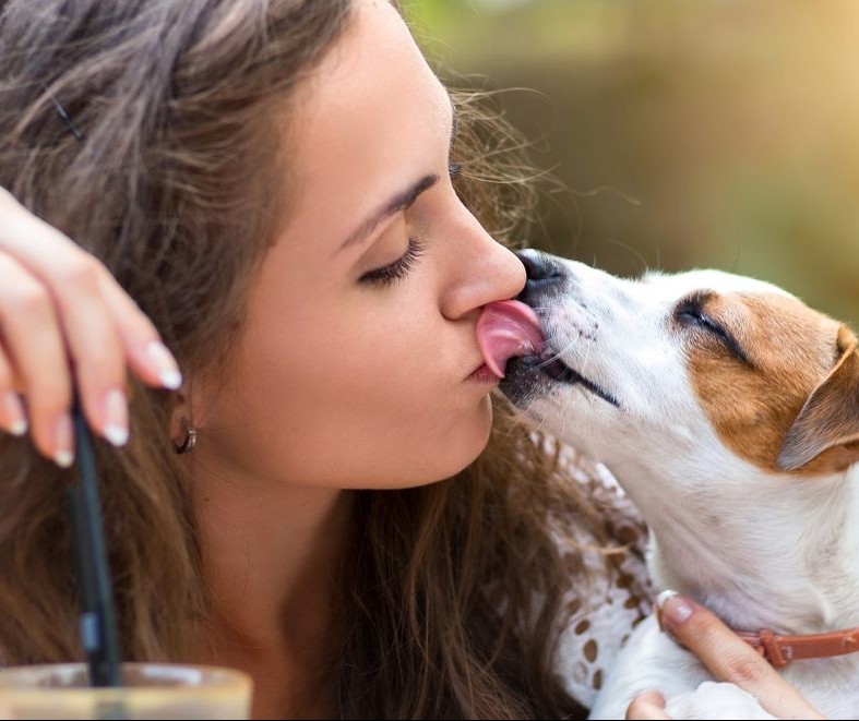
MULTIPOLYGON (((0 185, 105 263, 187 375, 229 360, 244 289, 281 211, 271 200, 277 134, 266 119, 348 26, 349 1, 0 8, 0 185)), ((474 96, 457 105, 458 192, 505 240, 532 207, 514 182, 517 145, 474 96)), ((135 385, 128 447, 97 448, 129 660, 181 660, 189 622, 208 608, 189 479, 167 436, 171 402, 135 385)), ((583 518, 584 503, 573 484, 562 491, 553 456, 497 405, 487 450, 456 478, 356 493, 357 572, 332 649, 344 717, 582 711, 551 672, 559 579, 571 570, 550 524, 583 518)), ((26 440, 0 441, 7 663, 83 658, 62 474, 26 440)))

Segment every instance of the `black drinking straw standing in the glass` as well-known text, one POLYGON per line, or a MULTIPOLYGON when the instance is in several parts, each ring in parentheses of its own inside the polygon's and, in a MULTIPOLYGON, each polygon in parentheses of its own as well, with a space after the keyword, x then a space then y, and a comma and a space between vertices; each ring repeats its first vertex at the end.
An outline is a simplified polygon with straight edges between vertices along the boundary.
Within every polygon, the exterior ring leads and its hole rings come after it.
POLYGON ((90 426, 75 398, 72 408, 77 478, 67 488, 74 562, 81 596, 80 634, 93 686, 120 686, 119 634, 102 520, 90 426))

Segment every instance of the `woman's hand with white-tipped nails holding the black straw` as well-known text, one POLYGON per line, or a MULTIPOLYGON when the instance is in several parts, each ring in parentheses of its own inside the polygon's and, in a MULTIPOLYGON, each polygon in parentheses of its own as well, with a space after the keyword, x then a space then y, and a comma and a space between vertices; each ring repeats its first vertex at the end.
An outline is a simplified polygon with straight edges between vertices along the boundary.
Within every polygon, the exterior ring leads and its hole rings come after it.
POLYGON ((74 380, 88 423, 121 446, 127 368, 156 387, 181 384, 155 327, 104 265, 0 188, 0 428, 29 431, 40 453, 71 465, 74 380))

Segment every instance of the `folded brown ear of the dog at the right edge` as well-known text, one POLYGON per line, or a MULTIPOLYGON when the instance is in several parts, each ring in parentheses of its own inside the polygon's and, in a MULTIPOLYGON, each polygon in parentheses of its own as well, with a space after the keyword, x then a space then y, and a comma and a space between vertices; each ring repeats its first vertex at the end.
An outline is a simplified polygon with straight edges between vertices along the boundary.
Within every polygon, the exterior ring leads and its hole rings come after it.
POLYGON ((797 470, 830 449, 822 471, 844 470, 859 460, 859 353, 856 336, 845 326, 838 329, 837 347, 838 362, 811 392, 785 436, 777 459, 782 470, 797 470))

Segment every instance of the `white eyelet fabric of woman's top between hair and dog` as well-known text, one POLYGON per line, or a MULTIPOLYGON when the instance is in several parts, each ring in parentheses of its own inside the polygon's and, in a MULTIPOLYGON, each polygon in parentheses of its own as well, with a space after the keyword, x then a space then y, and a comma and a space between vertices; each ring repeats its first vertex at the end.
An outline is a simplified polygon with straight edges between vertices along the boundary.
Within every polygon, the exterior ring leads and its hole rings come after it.
POLYGON ((556 671, 568 692, 590 707, 621 646, 652 610, 647 529, 608 468, 572 448, 560 454, 564 474, 589 501, 590 517, 559 526, 556 536, 571 570, 556 671))

